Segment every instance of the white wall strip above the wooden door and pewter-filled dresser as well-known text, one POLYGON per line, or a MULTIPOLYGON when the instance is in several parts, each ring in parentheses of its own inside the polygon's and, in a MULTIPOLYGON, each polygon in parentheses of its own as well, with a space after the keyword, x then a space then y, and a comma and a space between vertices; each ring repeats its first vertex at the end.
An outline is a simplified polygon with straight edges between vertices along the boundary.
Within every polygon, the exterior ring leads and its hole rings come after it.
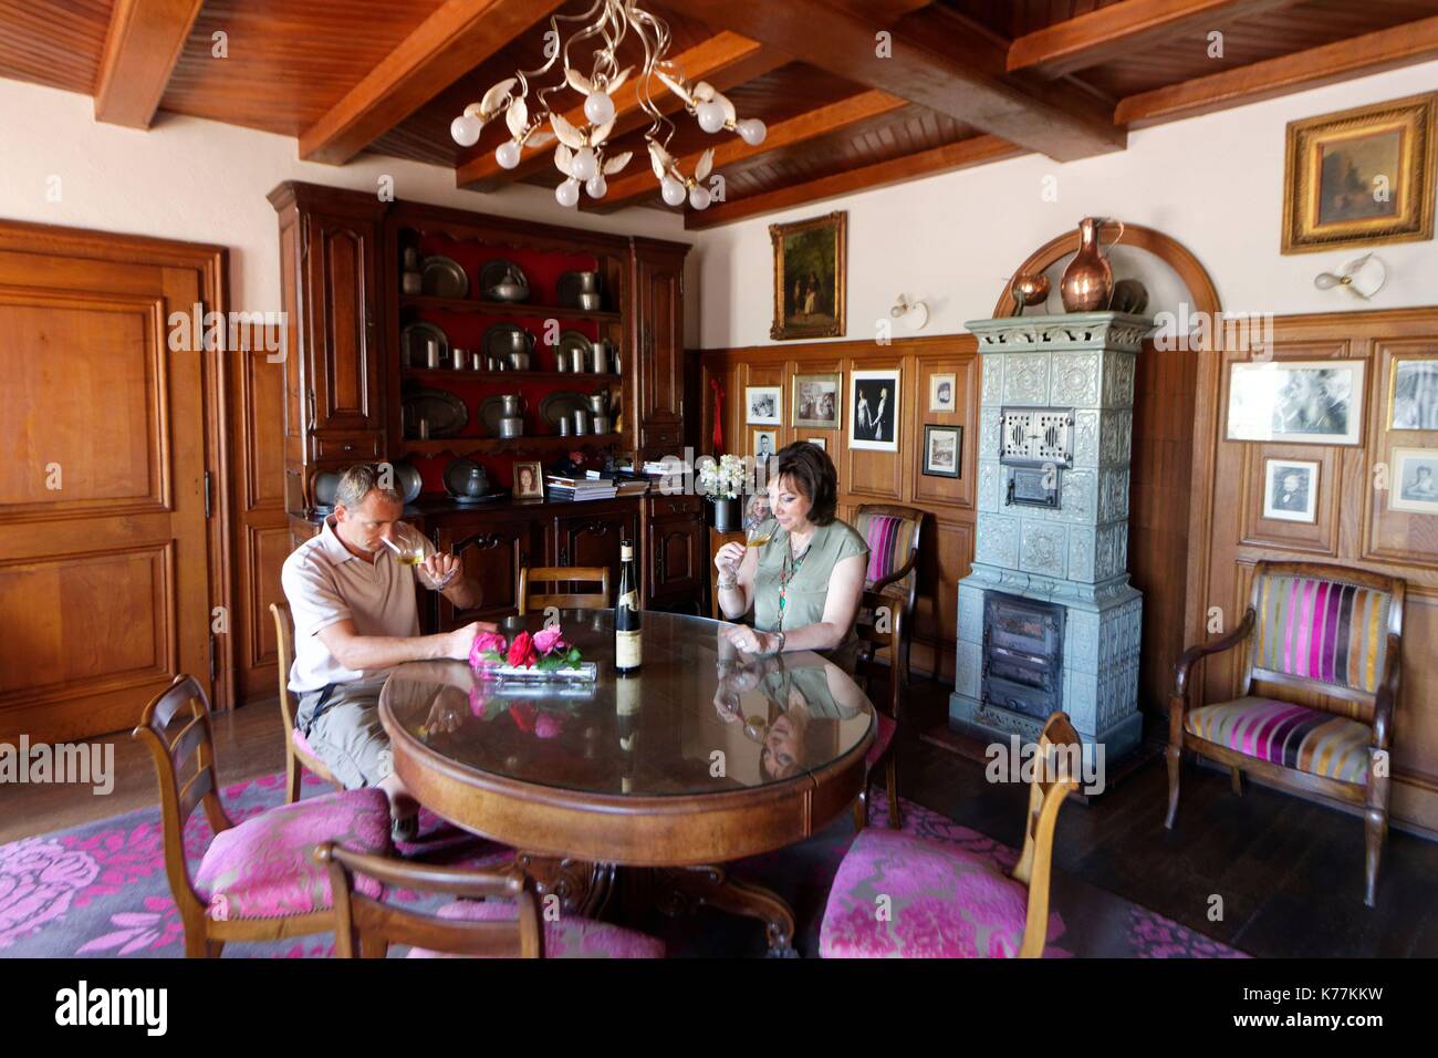
POLYGON ((230 249, 230 307, 279 311, 279 223, 265 199, 283 180, 378 191, 397 199, 526 220, 692 242, 677 214, 562 209, 542 187, 496 194, 454 187, 450 168, 365 154, 344 167, 299 161, 290 137, 161 114, 150 131, 99 124, 88 95, 0 81, 0 217, 230 249), (60 200, 46 197, 60 178, 60 200))

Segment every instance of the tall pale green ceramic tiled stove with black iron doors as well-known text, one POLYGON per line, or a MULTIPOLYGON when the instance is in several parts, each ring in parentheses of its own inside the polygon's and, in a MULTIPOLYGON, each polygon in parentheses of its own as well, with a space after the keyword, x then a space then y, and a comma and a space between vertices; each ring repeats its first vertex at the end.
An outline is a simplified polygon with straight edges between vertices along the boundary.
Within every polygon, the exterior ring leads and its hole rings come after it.
POLYGON ((966 327, 984 396, 951 721, 1007 744, 1037 740, 1063 710, 1113 763, 1142 733, 1129 458, 1135 364, 1152 322, 1081 312, 966 327))

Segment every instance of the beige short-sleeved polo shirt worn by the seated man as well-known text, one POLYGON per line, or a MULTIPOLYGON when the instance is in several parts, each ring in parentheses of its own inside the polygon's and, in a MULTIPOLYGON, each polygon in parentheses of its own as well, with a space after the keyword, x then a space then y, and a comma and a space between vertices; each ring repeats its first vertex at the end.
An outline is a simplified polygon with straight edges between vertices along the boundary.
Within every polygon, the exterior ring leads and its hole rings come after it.
MULTIPOLYGON (((426 554, 430 551, 433 546, 426 540, 426 554)), ((383 679, 388 669, 341 665, 315 633, 349 619, 362 636, 417 636, 414 577, 416 567, 404 566, 388 547, 381 546, 372 563, 351 554, 335 535, 334 515, 325 518, 319 535, 295 548, 280 573, 295 618, 289 689, 308 694, 328 684, 383 679)), ((424 570, 418 577, 426 587, 434 587, 424 570)))

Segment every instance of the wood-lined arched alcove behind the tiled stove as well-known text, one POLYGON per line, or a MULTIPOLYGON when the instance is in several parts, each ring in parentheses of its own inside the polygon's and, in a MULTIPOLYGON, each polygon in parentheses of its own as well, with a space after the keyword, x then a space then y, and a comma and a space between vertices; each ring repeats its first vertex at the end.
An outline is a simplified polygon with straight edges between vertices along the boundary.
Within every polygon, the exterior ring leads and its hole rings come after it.
MULTIPOLYGON (((1106 225, 1104 245, 1117 235, 1106 225)), ((1050 276, 1048 305, 1041 311, 1063 312, 1058 276, 1078 249, 1077 229, 1050 239, 1014 271, 994 307, 995 317, 1014 315, 1008 289, 1020 275, 1050 276)), ((1160 311, 1218 314, 1218 291, 1208 272, 1186 246, 1152 227, 1127 225, 1122 242, 1106 249, 1114 278, 1140 279, 1149 289, 1146 315, 1160 311)), ((1034 311, 1034 309, 1030 309, 1034 311)), ((1179 317, 1182 318, 1182 317, 1179 317)), ((1209 511, 1196 510, 1211 495, 1206 482, 1195 481, 1209 459, 1196 461, 1195 445, 1209 451, 1215 438, 1195 438, 1195 406, 1199 399, 1196 350, 1158 351, 1152 341, 1139 354, 1133 390, 1133 459, 1129 475, 1129 573, 1143 592, 1143 648, 1139 655, 1139 705, 1165 713, 1173 691, 1173 665, 1183 651, 1188 618, 1188 584, 1204 583, 1199 570, 1189 577, 1189 564, 1206 563, 1206 556, 1189 554, 1191 527, 1202 525, 1209 511), (1195 497, 1199 499, 1195 502, 1195 497)), ((1202 538, 1202 537, 1196 537, 1202 538)), ((1201 550, 1201 548, 1199 548, 1201 550)), ((1196 605, 1196 603, 1195 603, 1196 605)))

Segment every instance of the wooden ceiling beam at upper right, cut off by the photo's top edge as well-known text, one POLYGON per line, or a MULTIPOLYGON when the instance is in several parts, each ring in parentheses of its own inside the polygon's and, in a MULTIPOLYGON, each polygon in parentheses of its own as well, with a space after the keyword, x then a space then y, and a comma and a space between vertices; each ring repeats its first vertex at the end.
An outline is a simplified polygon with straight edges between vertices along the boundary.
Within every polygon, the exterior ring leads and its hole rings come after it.
POLYGON ((1008 49, 1007 66, 1009 72, 1030 71, 1041 78, 1060 78, 1185 35, 1206 37, 1211 30, 1237 19, 1294 1, 1123 0, 1021 36, 1008 49))

